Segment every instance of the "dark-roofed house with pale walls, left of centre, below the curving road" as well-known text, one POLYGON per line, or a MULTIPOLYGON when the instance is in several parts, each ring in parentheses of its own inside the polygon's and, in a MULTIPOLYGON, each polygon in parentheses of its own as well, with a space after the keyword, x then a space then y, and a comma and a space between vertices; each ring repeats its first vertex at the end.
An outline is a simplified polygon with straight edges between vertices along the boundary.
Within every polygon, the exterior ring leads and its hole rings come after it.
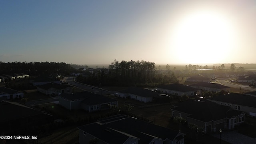
POLYGON ((109 109, 109 105, 118 105, 118 101, 91 92, 76 92, 60 94, 59 104, 69 110, 84 109, 88 112, 109 109))

